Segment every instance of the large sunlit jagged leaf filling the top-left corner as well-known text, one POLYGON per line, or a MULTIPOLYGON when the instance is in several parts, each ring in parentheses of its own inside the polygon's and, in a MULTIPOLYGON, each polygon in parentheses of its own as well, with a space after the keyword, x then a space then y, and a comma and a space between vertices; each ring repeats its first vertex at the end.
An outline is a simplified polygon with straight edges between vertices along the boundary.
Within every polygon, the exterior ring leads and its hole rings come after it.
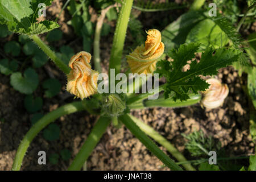
MULTIPOLYGON (((52 0, 44 0, 46 6, 51 5, 52 0)), ((59 27, 56 22, 44 20, 36 22, 38 18, 38 5, 40 0, 2 0, 0 2, 0 21, 7 24, 10 31, 19 34, 43 34, 59 27)))

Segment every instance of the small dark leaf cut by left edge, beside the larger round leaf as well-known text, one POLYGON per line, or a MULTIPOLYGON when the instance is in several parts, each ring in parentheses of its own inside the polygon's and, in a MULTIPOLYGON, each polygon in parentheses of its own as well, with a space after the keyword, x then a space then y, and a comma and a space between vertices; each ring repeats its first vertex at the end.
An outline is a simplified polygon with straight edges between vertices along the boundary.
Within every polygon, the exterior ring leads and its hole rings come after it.
POLYGON ((16 60, 9 62, 7 59, 0 60, 0 72, 3 75, 10 75, 18 69, 19 65, 16 60))

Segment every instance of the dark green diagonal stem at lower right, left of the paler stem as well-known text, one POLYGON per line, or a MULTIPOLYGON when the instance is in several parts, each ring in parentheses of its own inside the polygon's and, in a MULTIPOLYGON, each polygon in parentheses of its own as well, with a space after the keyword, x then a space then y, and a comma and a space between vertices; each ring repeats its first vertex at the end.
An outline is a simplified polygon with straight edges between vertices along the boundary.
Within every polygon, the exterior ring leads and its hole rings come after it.
POLYGON ((119 117, 120 121, 125 124, 127 129, 133 133, 135 137, 137 137, 143 144, 150 150, 158 159, 160 159, 167 167, 174 171, 182 171, 182 169, 175 164, 175 162, 170 159, 150 138, 147 137, 147 135, 139 129, 139 127, 136 125, 136 123, 133 121, 133 119, 128 114, 123 114, 119 117))

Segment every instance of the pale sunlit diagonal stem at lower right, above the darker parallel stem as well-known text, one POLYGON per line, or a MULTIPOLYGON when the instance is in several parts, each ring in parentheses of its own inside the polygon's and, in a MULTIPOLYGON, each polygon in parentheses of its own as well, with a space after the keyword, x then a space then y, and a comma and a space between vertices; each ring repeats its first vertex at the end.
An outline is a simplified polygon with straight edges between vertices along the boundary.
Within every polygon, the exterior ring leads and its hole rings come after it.
MULTIPOLYGON (((187 159, 170 143, 166 138, 160 135, 157 131, 155 131, 152 127, 146 125, 140 119, 137 119, 130 115, 133 121, 139 126, 139 128, 144 131, 148 136, 154 139, 156 142, 165 147, 171 154, 174 156, 179 162, 185 162, 187 159)), ((188 171, 195 171, 196 169, 191 166, 191 164, 183 164, 183 167, 188 171)))

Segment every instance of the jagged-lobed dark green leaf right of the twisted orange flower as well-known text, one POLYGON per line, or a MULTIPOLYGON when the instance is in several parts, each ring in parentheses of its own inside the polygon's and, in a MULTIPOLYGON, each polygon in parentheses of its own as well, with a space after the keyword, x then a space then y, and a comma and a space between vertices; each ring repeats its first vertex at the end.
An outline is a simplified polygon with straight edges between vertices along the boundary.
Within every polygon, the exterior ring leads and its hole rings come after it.
POLYGON ((213 76, 217 75, 217 69, 226 67, 238 60, 238 53, 234 49, 217 49, 213 55, 213 48, 209 47, 202 53, 201 60, 197 63, 193 60, 188 71, 183 72, 182 68, 187 64, 187 61, 195 57, 195 52, 199 49, 199 44, 183 44, 176 51, 172 49, 168 52, 174 61, 167 60, 158 61, 156 73, 159 76, 166 77, 167 84, 164 84, 164 96, 168 98, 171 93, 174 93, 173 99, 181 101, 189 98, 188 93, 197 94, 198 91, 204 91, 209 87, 205 80, 201 80, 200 75, 213 76))

